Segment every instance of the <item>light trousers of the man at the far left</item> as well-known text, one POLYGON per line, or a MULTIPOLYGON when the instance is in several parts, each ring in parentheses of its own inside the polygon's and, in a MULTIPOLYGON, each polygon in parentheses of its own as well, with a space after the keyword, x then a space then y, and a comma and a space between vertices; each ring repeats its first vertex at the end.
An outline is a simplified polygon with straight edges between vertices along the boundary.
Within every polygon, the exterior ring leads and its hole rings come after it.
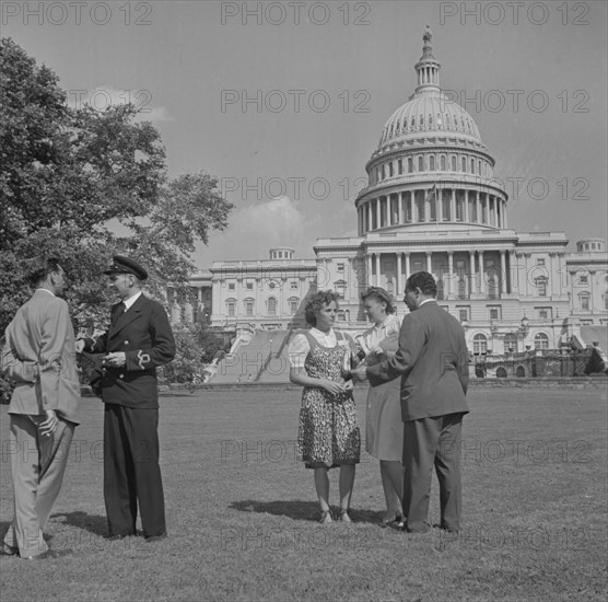
POLYGON ((22 558, 48 549, 43 530, 61 489, 75 425, 59 418, 49 437, 40 436, 46 416, 10 415, 14 519, 4 543, 19 547, 22 558))

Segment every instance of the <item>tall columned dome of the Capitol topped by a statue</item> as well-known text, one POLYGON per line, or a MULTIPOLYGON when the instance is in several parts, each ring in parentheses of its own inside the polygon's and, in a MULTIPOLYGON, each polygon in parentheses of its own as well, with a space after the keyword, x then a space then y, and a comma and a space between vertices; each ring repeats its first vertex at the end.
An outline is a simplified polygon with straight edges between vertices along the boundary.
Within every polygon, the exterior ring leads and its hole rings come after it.
POLYGON ((430 228, 506 228, 507 195, 473 118, 440 88, 441 65, 426 27, 418 85, 390 115, 365 165, 359 235, 430 228))

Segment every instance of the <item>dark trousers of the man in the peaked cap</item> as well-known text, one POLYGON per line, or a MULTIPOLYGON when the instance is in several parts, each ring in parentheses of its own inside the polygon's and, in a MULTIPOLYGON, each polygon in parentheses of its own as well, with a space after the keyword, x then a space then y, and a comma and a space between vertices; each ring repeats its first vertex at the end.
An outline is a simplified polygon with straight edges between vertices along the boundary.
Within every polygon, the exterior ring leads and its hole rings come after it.
POLYGON ((104 498, 108 535, 163 535, 165 501, 159 465, 159 409, 105 404, 104 498))

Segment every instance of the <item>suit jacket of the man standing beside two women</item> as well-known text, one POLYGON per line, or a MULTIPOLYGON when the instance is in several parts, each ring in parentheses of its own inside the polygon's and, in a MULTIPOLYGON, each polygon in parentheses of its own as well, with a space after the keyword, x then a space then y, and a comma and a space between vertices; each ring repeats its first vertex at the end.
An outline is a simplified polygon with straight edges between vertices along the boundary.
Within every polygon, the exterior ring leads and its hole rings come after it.
POLYGON ((404 422, 468 412, 465 331, 436 301, 406 315, 397 354, 367 368, 372 385, 399 375, 404 422))

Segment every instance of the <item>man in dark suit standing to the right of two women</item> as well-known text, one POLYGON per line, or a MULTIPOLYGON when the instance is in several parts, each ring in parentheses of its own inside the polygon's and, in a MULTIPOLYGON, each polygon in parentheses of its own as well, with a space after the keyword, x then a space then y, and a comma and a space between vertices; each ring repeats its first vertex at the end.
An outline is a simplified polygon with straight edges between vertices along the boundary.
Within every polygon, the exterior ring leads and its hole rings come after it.
POLYGON ((460 323, 435 301, 434 278, 412 274, 406 282, 410 314, 401 324, 399 349, 367 368, 372 385, 401 375, 404 420, 404 513, 408 532, 429 529, 433 465, 440 483, 441 528, 460 529, 460 441, 468 412, 468 352, 460 323))

